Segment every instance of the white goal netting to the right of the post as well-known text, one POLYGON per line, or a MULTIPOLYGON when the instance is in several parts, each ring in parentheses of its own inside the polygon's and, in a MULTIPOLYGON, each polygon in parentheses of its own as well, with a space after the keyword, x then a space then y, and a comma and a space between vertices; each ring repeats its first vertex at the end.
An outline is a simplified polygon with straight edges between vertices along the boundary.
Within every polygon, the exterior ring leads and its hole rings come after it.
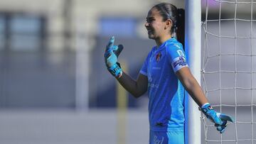
POLYGON ((206 0, 205 12, 202 87, 235 123, 220 135, 203 118, 203 143, 256 143, 256 1, 206 0))

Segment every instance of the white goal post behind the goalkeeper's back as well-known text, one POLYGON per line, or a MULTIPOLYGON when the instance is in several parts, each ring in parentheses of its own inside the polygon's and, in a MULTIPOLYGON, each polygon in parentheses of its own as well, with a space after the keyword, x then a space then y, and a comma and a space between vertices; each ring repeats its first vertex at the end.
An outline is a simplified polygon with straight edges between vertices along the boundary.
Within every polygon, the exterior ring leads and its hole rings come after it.
MULTIPOLYGON (((201 83, 201 0, 185 1, 185 51, 188 65, 198 83, 201 83)), ((185 143, 201 143, 201 112, 186 93, 185 143)))

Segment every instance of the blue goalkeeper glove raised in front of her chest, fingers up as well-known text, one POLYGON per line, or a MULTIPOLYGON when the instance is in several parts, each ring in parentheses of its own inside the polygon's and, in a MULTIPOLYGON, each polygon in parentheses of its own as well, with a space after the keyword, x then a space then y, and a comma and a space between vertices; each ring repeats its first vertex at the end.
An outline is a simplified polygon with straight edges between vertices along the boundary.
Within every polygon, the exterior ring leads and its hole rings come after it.
POLYGON ((114 45, 114 36, 110 38, 110 42, 107 44, 105 50, 105 64, 107 66, 107 70, 114 76, 114 77, 121 77, 122 76, 122 69, 117 62, 117 58, 123 50, 123 45, 114 45))

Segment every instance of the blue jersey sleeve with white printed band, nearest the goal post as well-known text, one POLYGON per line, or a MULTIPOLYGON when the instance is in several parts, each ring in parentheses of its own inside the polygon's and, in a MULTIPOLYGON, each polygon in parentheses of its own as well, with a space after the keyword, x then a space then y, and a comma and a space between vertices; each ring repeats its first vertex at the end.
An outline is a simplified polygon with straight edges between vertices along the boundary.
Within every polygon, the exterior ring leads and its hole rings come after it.
POLYGON ((167 55, 174 72, 181 70, 183 67, 188 67, 186 55, 181 43, 169 45, 169 48, 167 48, 167 55))

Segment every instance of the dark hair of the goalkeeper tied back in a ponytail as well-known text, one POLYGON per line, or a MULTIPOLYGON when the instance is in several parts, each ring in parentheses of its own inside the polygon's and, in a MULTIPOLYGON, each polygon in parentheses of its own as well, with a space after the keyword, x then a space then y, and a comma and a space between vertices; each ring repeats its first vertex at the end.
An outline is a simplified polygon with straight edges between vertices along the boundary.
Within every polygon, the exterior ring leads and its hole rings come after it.
POLYGON ((182 43, 184 47, 185 39, 185 11, 184 9, 177 9, 176 6, 169 3, 160 3, 153 6, 156 8, 160 15, 163 17, 163 21, 171 19, 173 25, 171 26, 171 34, 174 35, 177 40, 182 43))

